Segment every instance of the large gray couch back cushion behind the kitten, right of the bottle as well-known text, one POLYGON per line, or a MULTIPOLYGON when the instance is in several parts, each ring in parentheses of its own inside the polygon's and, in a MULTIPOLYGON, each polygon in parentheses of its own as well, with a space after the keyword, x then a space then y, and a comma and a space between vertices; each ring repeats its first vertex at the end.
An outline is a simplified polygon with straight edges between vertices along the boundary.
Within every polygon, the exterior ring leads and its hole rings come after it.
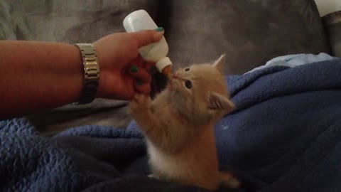
POLYGON ((225 73, 278 55, 330 53, 313 0, 165 0, 158 11, 175 68, 227 54, 225 73))

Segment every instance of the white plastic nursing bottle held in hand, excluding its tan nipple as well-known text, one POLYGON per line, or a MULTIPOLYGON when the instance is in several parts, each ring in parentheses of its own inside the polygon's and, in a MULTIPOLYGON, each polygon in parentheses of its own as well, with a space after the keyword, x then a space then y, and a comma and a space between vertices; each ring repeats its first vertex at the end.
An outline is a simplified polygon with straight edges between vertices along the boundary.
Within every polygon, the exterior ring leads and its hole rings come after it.
MULTIPOLYGON (((151 16, 144 10, 134 11, 126 16, 123 25, 128 33, 158 28, 151 16)), ((139 53, 144 60, 156 63, 156 68, 158 68, 160 72, 165 71, 165 68, 171 68, 171 60, 167 57, 168 44, 164 37, 161 38, 161 41, 141 47, 139 53)), ((167 71, 169 73, 169 70, 167 71)))

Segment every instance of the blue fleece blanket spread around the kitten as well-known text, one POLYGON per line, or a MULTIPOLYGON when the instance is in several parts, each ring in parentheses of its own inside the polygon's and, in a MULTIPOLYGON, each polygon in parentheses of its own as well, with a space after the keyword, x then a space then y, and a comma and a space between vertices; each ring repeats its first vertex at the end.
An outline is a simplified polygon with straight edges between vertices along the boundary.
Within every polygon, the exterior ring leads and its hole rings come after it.
MULTIPOLYGON (((329 60, 227 77, 237 110, 217 124, 217 148, 243 183, 235 191, 341 191, 340 72, 329 60)), ((0 122, 0 143, 0 191, 205 191, 146 177, 134 122, 47 138, 12 119, 0 122)))

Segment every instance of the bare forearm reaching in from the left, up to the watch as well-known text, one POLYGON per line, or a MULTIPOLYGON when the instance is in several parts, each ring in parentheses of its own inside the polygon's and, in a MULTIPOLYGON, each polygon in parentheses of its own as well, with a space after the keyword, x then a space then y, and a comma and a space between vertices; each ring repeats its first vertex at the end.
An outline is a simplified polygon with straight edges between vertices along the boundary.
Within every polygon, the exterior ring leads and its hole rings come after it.
POLYGON ((64 43, 0 41, 0 119, 79 99, 82 59, 64 43))

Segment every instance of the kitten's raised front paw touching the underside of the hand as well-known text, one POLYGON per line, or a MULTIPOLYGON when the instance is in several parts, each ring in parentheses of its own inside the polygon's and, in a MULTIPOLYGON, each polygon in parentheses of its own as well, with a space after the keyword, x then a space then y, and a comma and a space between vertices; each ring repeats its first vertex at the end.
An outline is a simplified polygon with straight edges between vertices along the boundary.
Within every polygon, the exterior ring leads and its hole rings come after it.
POLYGON ((129 104, 129 113, 135 118, 136 115, 146 114, 151 108, 151 97, 142 94, 135 94, 134 99, 129 104))

